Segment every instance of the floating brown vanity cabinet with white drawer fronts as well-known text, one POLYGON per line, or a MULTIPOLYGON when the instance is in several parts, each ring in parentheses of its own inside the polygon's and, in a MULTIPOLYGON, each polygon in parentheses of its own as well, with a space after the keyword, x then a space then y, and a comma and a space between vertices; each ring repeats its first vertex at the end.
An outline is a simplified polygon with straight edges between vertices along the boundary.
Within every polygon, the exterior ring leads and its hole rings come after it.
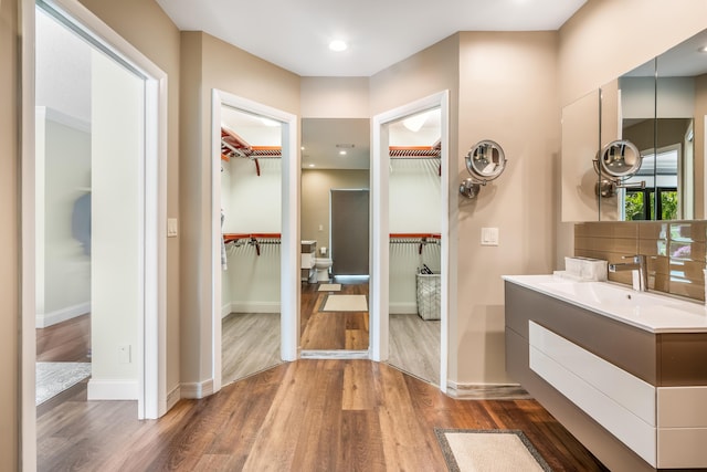
POLYGON ((707 468, 707 333, 651 332, 505 290, 508 374, 606 466, 707 468))

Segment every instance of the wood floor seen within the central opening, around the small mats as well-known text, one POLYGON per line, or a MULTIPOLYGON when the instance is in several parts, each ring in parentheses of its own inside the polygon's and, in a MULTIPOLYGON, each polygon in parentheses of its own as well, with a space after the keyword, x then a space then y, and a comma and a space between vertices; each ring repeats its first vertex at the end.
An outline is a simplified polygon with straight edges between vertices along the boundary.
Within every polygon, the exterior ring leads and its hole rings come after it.
MULTIPOLYGON (((337 281, 337 283, 339 283, 337 281)), ((300 346, 303 350, 368 349, 368 312, 321 312, 329 293, 366 295, 368 281, 341 283, 339 292, 319 292, 319 284, 302 284, 300 346)))

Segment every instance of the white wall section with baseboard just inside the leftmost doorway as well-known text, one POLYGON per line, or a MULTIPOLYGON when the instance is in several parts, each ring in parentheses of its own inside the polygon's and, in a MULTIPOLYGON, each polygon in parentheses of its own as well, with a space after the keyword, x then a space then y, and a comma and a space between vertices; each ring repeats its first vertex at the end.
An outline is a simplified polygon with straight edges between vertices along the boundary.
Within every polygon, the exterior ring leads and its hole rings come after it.
POLYGON ((92 378, 89 399, 137 399, 144 287, 144 82, 92 55, 92 378), (119 130, 119 133, 117 133, 119 130), (120 348, 130 358, 120 356, 120 348))

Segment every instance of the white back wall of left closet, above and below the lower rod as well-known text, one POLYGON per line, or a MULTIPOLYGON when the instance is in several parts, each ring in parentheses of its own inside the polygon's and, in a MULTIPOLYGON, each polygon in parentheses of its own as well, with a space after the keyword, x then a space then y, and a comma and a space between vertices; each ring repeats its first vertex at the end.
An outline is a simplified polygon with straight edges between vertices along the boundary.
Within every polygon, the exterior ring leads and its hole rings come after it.
MULTIPOLYGON (((236 130, 238 132, 238 130, 236 130)), ((261 159, 261 175, 249 159, 222 161, 221 207, 225 233, 279 233, 282 228, 282 160, 261 159)), ((226 247, 222 273, 222 315, 279 312, 279 245, 226 247)))

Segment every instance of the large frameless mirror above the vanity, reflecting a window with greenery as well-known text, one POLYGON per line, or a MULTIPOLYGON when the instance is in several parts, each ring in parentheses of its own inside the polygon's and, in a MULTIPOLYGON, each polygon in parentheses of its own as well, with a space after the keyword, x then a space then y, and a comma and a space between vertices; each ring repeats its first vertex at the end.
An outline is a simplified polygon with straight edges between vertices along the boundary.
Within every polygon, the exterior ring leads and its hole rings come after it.
MULTIPOLYGON (((705 44, 707 30, 603 85, 598 119, 592 115, 581 118, 581 99, 564 107, 563 221, 705 218, 707 53, 699 51, 705 44), (568 122, 572 116, 577 119, 568 122), (574 161, 580 154, 577 144, 593 140, 595 126, 600 135, 597 150, 613 140, 629 140, 635 144, 642 160, 633 177, 602 198, 594 191, 597 188, 601 192, 601 176, 594 172, 595 182, 590 187, 582 176, 569 179, 566 171, 568 160, 574 161), (593 212, 588 211, 592 199, 593 212)), ((588 101, 591 103, 591 98, 588 101)))

